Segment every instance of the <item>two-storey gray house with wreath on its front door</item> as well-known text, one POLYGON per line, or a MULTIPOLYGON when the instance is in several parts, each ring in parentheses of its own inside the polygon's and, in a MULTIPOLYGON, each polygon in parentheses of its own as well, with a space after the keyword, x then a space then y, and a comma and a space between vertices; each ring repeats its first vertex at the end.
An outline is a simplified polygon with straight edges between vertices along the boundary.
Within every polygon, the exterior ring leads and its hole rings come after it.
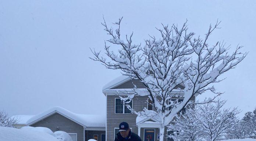
MULTIPOLYGON (((138 134, 143 141, 159 140, 160 123, 157 119, 137 117, 136 114, 131 114, 131 111, 121 103, 118 95, 127 96, 127 93, 132 92, 134 85, 137 88, 145 89, 139 80, 131 79, 128 76, 118 77, 103 87, 102 92, 106 96, 106 141, 114 140, 115 135, 118 133, 118 125, 121 122, 129 123, 131 130, 138 134)), ((178 88, 184 89, 184 86, 180 85, 178 88)), ((175 89, 173 92, 180 93, 178 89, 175 89)), ((182 101, 182 99, 180 100, 182 101)), ((195 97, 191 100, 195 101, 195 97)), ((135 111, 142 111, 143 107, 152 110, 152 106, 148 105, 146 101, 147 97, 137 96, 132 100, 130 106, 135 111)), ((167 130, 165 130, 164 134, 167 134, 167 130)), ((166 141, 171 141, 171 139, 166 138, 166 141)))

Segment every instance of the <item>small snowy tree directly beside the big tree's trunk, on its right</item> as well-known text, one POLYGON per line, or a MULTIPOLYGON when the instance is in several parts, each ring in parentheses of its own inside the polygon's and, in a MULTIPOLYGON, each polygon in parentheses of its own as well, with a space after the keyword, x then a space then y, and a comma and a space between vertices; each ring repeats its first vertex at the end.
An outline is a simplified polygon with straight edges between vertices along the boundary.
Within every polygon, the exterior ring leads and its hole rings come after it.
POLYGON ((195 119, 196 110, 187 108, 185 114, 176 115, 174 121, 168 127, 167 137, 174 141, 200 141, 205 132, 198 126, 195 119))

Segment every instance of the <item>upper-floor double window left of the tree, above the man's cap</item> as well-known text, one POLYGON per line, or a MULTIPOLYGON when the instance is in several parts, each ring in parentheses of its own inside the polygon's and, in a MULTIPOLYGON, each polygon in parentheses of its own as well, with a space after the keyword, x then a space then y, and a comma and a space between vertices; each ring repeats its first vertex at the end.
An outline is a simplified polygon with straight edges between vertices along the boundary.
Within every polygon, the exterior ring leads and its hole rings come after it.
MULTIPOLYGON (((132 108, 132 101, 129 103, 132 108)), ((121 99, 115 98, 115 114, 132 114, 131 111, 122 103, 121 99)))

